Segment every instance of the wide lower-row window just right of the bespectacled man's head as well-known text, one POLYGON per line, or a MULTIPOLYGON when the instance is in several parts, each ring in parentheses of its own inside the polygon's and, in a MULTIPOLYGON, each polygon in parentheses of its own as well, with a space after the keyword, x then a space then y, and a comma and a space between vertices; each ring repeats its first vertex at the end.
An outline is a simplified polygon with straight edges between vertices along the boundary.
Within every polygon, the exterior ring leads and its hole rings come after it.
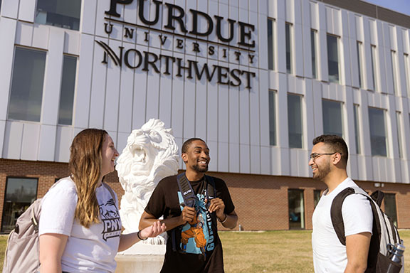
POLYGON ((387 156, 387 134, 384 124, 384 110, 369 107, 372 156, 387 156))

